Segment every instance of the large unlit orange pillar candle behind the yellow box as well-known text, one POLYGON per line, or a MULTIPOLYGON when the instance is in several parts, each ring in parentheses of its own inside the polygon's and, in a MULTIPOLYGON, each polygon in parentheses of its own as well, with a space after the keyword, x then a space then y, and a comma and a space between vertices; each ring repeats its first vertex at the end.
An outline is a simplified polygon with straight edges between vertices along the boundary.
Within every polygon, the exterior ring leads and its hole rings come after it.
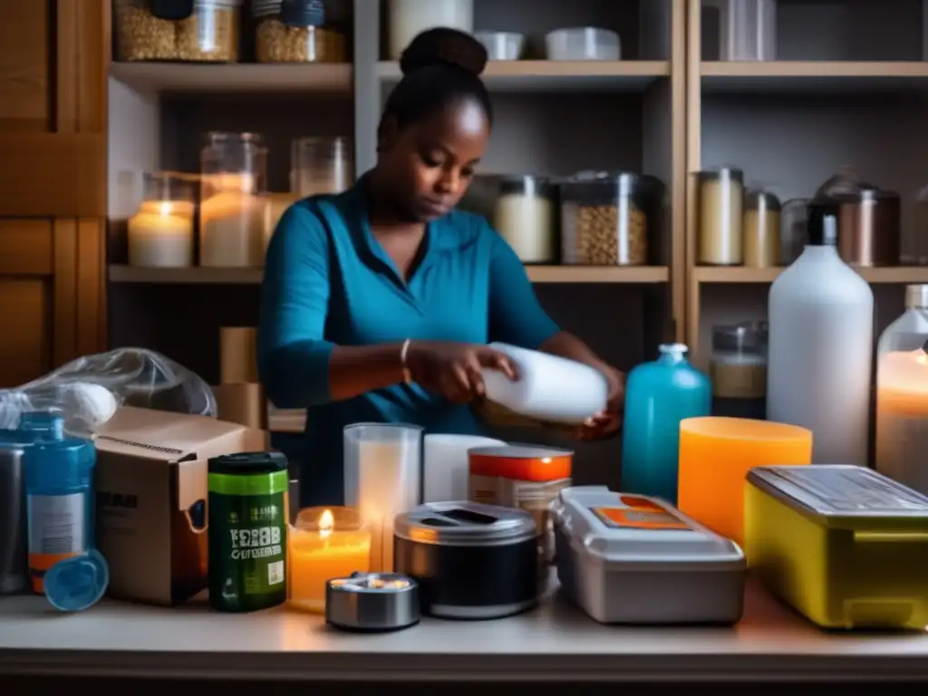
POLYGON ((748 471, 811 461, 812 432, 806 428, 714 416, 685 419, 680 423, 678 507, 741 544, 748 471))

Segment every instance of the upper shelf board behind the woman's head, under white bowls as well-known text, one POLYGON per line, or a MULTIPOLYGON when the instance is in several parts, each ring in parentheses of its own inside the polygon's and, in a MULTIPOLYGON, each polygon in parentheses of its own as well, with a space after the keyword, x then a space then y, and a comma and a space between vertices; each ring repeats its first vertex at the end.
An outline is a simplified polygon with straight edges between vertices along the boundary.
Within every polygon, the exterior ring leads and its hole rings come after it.
MULTIPOLYGON (((381 61, 377 75, 395 83, 399 64, 381 61)), ((669 75, 667 60, 496 60, 487 64, 483 80, 503 92, 642 92, 669 75)))

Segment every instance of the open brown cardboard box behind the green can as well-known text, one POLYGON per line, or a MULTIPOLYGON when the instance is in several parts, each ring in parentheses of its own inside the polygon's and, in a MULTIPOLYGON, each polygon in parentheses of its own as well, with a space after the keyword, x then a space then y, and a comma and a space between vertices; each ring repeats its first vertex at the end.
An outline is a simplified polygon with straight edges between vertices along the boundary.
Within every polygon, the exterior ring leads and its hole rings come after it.
POLYGON ((97 548, 111 597, 164 606, 206 587, 207 459, 264 451, 235 423, 123 406, 97 431, 97 548))

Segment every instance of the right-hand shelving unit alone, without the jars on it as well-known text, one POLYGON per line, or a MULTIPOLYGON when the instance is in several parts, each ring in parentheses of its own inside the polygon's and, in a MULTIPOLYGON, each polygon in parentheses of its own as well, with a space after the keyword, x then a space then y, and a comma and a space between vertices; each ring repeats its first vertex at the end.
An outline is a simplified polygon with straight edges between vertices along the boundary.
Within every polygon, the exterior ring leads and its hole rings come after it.
MULTIPOLYGON (((852 165, 902 197, 903 232, 916 192, 928 184, 925 8, 916 0, 858 3, 780 0, 780 60, 721 62, 703 40, 699 0, 688 4, 686 341, 705 365, 712 327, 766 316, 780 268, 697 264, 697 174, 738 167, 745 184, 780 200, 811 198, 852 165)), ((902 311, 903 288, 928 282, 926 267, 862 268, 876 300, 876 335, 902 311)))

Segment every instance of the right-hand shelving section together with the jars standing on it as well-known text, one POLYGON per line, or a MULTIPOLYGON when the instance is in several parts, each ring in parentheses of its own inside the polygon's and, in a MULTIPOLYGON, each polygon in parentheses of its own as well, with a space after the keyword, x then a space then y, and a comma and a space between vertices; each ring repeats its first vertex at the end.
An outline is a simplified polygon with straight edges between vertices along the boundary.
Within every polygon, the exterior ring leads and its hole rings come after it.
POLYGON ((812 200, 838 206, 839 255, 872 285, 884 328, 902 287, 928 278, 922 4, 703 0, 689 5, 688 31, 686 336, 697 363, 714 327, 766 319, 812 200))

